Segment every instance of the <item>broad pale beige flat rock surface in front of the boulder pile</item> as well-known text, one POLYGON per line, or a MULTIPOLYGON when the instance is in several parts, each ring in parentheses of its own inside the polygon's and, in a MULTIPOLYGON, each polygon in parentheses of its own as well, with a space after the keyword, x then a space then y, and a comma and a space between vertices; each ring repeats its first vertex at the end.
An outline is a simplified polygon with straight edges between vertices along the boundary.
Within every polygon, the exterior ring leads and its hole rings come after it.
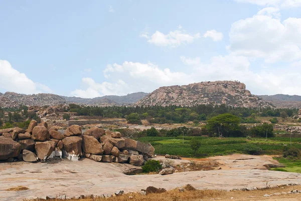
POLYGON ((266 187, 282 184, 301 184, 301 174, 261 169, 221 169, 191 171, 170 175, 122 173, 126 164, 96 162, 87 158, 80 161, 53 161, 49 163, 1 162, 0 200, 22 200, 46 195, 66 194, 101 195, 117 190, 139 191, 147 186, 176 188, 191 184, 197 188, 266 187), (26 186, 28 190, 5 189, 26 186))

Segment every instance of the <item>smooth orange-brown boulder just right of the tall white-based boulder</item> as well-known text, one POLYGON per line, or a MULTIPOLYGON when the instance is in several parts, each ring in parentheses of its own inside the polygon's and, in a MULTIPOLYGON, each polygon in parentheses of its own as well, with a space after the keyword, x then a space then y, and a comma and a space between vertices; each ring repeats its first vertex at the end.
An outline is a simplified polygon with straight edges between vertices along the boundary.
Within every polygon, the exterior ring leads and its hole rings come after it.
POLYGON ((83 135, 82 138, 82 148, 85 153, 92 153, 95 155, 101 155, 103 153, 102 145, 94 138, 94 136, 83 135))

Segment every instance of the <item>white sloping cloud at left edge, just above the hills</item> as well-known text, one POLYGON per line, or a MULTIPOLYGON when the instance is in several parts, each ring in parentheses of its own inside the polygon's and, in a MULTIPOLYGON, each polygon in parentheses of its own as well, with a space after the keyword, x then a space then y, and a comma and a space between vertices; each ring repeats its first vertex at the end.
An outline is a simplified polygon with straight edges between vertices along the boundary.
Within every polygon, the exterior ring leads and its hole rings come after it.
POLYGON ((0 88, 22 94, 37 94, 52 92, 43 84, 29 79, 24 73, 20 73, 6 60, 0 60, 0 88))

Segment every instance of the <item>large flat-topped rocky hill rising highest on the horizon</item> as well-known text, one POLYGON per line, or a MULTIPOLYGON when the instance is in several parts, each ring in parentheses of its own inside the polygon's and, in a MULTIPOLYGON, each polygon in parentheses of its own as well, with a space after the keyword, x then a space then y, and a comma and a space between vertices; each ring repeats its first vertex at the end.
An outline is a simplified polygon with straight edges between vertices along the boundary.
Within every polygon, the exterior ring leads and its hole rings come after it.
POLYGON ((183 86, 160 87, 139 100, 135 105, 181 105, 226 104, 233 107, 273 107, 246 90, 245 84, 236 81, 200 82, 183 86))

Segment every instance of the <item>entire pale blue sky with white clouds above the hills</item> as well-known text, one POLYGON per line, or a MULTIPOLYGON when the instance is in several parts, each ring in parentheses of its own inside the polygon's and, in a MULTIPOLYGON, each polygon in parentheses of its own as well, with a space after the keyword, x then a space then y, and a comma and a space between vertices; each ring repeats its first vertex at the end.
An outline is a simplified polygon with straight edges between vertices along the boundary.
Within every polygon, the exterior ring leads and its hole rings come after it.
POLYGON ((0 0, 0 92, 93 98, 237 80, 301 95, 301 0, 0 0))

